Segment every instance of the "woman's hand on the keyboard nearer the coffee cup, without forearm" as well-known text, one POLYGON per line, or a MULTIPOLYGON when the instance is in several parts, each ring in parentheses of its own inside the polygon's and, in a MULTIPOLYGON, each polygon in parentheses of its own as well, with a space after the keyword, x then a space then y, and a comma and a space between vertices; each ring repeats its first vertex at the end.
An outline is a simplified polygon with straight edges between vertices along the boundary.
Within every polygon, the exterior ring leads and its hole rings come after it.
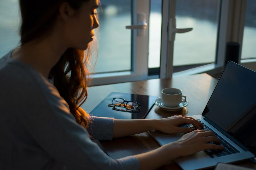
POLYGON ((192 117, 175 115, 158 119, 156 123, 156 130, 164 133, 189 133, 193 131, 191 128, 179 128, 178 125, 183 123, 192 124, 196 129, 201 129, 201 127, 204 126, 192 117))

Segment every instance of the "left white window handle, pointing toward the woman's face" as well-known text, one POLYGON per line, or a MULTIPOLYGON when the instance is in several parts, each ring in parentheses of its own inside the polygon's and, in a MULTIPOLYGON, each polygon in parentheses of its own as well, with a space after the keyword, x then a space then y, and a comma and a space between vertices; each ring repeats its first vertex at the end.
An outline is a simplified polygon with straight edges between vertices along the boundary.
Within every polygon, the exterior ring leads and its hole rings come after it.
POLYGON ((146 14, 138 13, 137 14, 137 24, 138 25, 131 25, 126 26, 126 29, 137 29, 137 36, 145 36, 145 29, 147 29, 147 22, 146 22, 146 14))

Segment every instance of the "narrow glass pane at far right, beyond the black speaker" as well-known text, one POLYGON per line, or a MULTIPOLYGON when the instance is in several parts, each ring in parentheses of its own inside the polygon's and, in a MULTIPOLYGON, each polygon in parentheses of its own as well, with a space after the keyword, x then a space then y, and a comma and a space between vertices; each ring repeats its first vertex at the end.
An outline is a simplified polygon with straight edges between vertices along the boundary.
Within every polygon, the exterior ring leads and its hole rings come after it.
POLYGON ((241 58, 256 58, 256 1, 247 0, 241 58))

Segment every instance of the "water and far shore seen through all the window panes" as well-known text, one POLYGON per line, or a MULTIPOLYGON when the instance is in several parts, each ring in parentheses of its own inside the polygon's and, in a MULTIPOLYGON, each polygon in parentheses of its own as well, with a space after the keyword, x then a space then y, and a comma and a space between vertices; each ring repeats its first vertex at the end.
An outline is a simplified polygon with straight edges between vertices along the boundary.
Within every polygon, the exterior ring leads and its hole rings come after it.
MULTIPOLYGON (((242 58, 255 57, 255 4, 247 0, 242 58)), ((98 59, 95 72, 131 70, 131 0, 101 1, 98 59)), ((179 0, 176 4, 176 25, 193 30, 176 34, 174 66, 205 64, 215 61, 218 0, 179 0)), ((148 67, 160 66, 161 1, 151 0, 149 19, 148 67)), ((19 45, 18 0, 0 1, 0 57, 19 45)))

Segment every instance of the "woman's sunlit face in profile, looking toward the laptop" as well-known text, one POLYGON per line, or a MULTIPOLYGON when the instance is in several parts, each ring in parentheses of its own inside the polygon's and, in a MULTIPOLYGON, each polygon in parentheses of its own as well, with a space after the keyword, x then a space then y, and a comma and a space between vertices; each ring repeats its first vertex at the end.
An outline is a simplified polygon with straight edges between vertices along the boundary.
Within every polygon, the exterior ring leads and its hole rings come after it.
POLYGON ((99 6, 98 0, 89 0, 84 2, 81 7, 75 11, 75 14, 68 22, 66 35, 70 47, 85 50, 93 40, 94 28, 99 27, 96 18, 96 8, 99 6))

